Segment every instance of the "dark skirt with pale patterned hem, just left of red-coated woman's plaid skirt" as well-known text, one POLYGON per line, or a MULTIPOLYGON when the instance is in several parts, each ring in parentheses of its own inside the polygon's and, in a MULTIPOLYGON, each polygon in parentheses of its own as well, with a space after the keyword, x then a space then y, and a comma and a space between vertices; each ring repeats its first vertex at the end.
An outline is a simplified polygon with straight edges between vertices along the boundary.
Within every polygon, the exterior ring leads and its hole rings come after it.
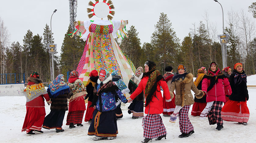
POLYGON ((130 110, 133 113, 134 117, 143 117, 144 116, 144 101, 137 101, 133 100, 133 102, 128 107, 128 110, 130 110))

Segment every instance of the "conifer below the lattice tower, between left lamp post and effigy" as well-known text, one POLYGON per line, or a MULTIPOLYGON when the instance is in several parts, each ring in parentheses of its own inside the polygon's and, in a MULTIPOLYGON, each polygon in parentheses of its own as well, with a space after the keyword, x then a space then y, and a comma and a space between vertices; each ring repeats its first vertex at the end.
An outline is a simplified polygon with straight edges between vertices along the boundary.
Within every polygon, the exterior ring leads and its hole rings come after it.
POLYGON ((69 32, 72 31, 71 26, 65 34, 60 54, 60 70, 63 75, 67 71, 76 70, 80 58, 83 54, 85 42, 77 36, 70 38, 69 32))

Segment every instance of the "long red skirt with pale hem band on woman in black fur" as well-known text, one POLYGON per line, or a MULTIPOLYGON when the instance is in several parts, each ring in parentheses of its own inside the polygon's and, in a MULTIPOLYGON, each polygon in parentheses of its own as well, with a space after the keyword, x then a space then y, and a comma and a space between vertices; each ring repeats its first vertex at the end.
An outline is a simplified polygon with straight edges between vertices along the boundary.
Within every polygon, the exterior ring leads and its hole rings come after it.
POLYGON ((248 122, 250 112, 247 101, 228 100, 221 110, 222 119, 225 121, 248 122))

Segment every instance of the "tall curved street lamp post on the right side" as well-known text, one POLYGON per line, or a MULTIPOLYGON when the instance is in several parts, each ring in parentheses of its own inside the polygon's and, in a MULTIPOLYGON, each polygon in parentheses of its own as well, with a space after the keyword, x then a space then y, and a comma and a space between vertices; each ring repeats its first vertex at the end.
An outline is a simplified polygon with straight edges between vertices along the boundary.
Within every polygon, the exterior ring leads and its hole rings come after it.
MULTIPOLYGON (((217 0, 214 0, 214 1, 218 2, 217 0)), ((224 33, 224 13, 223 13, 223 8, 222 8, 221 4, 220 4, 220 6, 222 9, 222 32, 223 32, 223 34, 218 35, 218 37, 220 38, 221 51, 222 51, 222 66, 223 66, 223 68, 225 68, 227 66, 227 42, 229 40, 229 35, 224 33)))

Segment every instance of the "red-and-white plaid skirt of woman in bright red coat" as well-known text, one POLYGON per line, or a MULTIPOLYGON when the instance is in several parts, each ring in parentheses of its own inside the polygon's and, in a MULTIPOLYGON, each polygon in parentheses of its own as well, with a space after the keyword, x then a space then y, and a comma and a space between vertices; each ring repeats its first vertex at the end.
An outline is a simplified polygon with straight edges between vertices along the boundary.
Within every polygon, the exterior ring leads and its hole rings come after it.
POLYGON ((148 114, 142 120, 144 138, 158 138, 166 135, 166 129, 159 114, 148 114))

